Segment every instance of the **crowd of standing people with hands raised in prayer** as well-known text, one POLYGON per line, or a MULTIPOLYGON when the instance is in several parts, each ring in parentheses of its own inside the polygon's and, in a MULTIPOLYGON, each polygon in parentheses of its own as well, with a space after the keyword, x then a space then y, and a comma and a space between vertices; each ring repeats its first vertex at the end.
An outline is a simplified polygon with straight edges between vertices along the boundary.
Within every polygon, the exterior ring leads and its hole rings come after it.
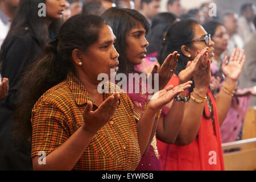
POLYGON ((255 5, 166 6, 0 0, 0 169, 225 170, 256 105, 255 5))

